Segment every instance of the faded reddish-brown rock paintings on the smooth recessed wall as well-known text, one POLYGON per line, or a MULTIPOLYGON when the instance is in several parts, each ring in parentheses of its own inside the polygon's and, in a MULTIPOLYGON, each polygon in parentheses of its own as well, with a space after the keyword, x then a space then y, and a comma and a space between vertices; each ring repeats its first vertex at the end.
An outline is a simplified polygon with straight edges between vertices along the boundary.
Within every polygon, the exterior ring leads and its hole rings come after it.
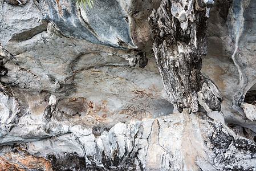
MULTIPOLYGON (((143 97, 150 97, 151 94, 145 93, 145 91, 132 91, 135 93, 135 96, 137 98, 143 98, 143 97)), ((134 99, 137 100, 137 99, 134 99)), ((96 101, 90 101, 87 100, 84 97, 70 97, 68 99, 68 102, 66 103, 67 106, 71 107, 71 109, 74 109, 76 112, 73 113, 72 116, 78 116, 79 113, 86 113, 83 118, 86 118, 89 123, 95 125, 97 123, 101 123, 103 121, 107 121, 108 119, 111 119, 112 117, 123 117, 121 115, 125 115, 124 117, 127 120, 143 120, 143 119, 151 119, 153 116, 149 111, 147 111, 147 108, 150 107, 149 105, 145 104, 124 104, 123 108, 121 108, 119 111, 113 113, 111 110, 109 110, 108 107, 108 101, 100 101, 99 103, 96 103, 96 101), (117 114, 117 115, 116 115, 117 114), (114 116, 115 115, 115 116, 114 116)), ((62 111, 60 109, 60 111, 62 111)), ((64 113, 64 112, 63 112, 64 113)), ((79 117, 82 115, 79 115, 79 117)))

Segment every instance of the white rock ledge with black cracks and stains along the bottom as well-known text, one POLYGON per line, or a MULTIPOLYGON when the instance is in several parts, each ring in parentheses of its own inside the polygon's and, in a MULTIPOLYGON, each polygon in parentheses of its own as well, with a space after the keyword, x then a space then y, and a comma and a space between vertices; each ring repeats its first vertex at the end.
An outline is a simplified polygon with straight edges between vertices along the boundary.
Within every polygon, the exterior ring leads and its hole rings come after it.
MULTIPOLYGON (((253 170, 256 166, 254 141, 235 135, 204 113, 184 111, 118 123, 111 129, 67 123, 61 127, 68 127, 65 133, 52 128, 51 137, 19 148, 43 156, 56 170, 253 170)), ((8 145, 2 148, 10 150, 8 145)))

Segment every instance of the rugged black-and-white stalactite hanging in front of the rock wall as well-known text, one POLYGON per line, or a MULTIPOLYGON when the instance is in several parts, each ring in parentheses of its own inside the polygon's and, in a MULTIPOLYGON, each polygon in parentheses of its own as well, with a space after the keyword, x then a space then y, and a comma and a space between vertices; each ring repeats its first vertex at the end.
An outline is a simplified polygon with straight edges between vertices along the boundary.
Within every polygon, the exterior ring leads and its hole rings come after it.
POLYGON ((207 54, 207 11, 206 5, 202 9, 201 1, 198 2, 196 6, 200 9, 196 10, 194 1, 162 1, 149 19, 157 66, 165 89, 179 112, 184 108, 190 108, 194 113, 198 111, 197 92, 203 84, 209 88, 208 93, 203 88, 202 101, 209 109, 221 111, 220 93, 216 88, 213 91, 213 83, 205 80, 200 72, 201 56, 207 54))

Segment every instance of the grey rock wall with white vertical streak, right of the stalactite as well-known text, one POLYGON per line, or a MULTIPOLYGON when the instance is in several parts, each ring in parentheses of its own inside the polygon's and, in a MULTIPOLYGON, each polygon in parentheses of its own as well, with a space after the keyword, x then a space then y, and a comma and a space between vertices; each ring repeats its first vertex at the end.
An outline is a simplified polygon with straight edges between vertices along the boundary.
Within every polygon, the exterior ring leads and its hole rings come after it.
POLYGON ((253 95, 250 92, 256 83, 253 6, 253 1, 215 1, 208 19, 208 54, 202 58, 201 72, 223 96, 225 121, 255 131, 255 123, 242 109, 243 99, 253 95))

